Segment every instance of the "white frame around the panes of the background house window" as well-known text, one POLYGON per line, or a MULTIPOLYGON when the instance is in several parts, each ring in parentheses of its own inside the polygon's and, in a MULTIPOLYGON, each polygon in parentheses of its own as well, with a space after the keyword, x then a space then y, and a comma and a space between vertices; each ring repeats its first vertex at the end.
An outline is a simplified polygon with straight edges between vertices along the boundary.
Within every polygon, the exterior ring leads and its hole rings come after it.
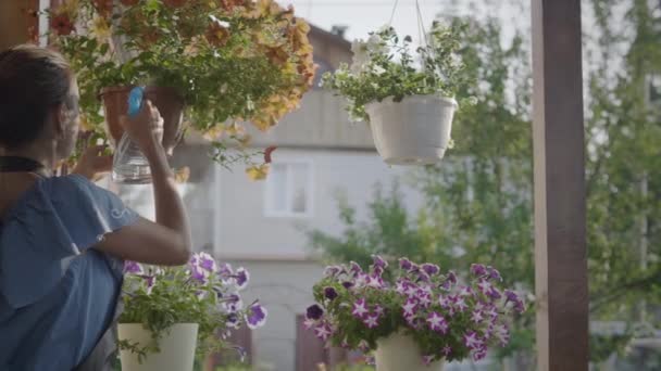
POLYGON ((287 183, 285 186, 286 200, 285 205, 287 205, 287 210, 274 210, 270 208, 270 205, 273 203, 270 202, 269 196, 271 192, 272 184, 270 181, 270 177, 266 177, 266 181, 264 182, 264 216, 267 218, 310 218, 314 215, 314 163, 312 159, 301 159, 301 158, 278 158, 272 163, 274 165, 285 165, 286 166, 286 178, 287 183), (295 213, 290 210, 291 207, 291 197, 294 186, 291 184, 291 166, 290 165, 307 165, 308 166, 308 192, 305 194, 305 212, 304 213, 295 213))

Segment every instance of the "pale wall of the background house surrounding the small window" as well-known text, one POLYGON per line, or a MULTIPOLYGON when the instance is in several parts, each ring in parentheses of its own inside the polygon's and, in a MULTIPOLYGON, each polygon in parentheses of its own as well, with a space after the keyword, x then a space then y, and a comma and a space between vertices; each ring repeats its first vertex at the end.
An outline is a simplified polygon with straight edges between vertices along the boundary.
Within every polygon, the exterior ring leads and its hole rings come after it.
MULTIPOLYGON (((266 182, 249 180, 239 169, 216 171, 215 253, 224 258, 266 258, 303 260, 310 255, 303 233, 310 228, 339 234, 336 195, 345 194, 366 217, 365 203, 372 200, 374 187, 382 182, 386 190, 404 177, 408 168, 388 167, 374 152, 310 151, 279 149, 274 164, 304 162, 310 164, 311 213, 305 217, 271 217, 265 213, 266 182)), ((421 196, 402 186, 406 204, 417 208, 421 196)))

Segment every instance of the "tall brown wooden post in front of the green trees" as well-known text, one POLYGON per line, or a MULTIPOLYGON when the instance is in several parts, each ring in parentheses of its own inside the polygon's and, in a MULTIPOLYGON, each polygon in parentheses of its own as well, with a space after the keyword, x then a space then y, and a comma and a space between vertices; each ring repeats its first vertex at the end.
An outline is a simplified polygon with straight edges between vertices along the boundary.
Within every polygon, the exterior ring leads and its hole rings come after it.
POLYGON ((532 0, 539 371, 588 369, 579 0, 532 0))

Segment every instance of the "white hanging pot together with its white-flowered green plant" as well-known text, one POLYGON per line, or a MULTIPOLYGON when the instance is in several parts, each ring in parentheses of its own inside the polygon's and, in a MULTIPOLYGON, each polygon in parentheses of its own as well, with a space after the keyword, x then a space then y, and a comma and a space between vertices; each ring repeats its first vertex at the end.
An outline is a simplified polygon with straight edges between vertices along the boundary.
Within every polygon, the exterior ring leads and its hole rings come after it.
POLYGON ((462 27, 434 23, 428 44, 413 53, 412 38, 386 26, 353 42, 350 66, 324 75, 322 86, 347 99, 350 118, 370 123, 387 164, 435 164, 451 146, 454 97, 467 80, 458 54, 462 27))

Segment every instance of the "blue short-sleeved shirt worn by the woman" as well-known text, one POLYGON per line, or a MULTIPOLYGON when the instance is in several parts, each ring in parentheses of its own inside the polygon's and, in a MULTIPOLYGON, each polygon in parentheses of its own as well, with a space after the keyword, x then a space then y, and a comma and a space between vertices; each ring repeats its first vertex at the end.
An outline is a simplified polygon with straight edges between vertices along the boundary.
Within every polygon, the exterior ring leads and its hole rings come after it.
POLYGON ((72 175, 39 179, 0 223, 0 370, 70 371, 113 317, 123 261, 90 248, 137 220, 72 175))

